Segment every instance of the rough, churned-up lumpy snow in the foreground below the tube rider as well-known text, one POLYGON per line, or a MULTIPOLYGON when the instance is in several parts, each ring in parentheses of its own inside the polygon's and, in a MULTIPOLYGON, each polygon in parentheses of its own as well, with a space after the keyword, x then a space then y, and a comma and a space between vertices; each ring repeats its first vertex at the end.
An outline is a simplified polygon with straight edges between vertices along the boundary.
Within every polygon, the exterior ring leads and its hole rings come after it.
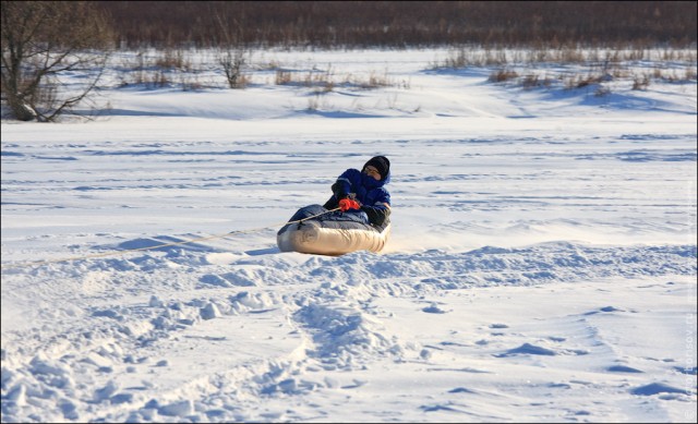
MULTIPOLYGON (((3 416, 8 421, 93 421, 100 417, 141 421, 156 415, 167 420, 168 416, 192 415, 196 409, 213 408, 221 397, 232 396, 236 401, 254 403, 278 393, 301 396, 340 386, 332 377, 313 378, 318 372, 368 370, 381 358, 398 362, 423 361, 431 358, 433 349, 442 349, 406 340, 390 331, 385 320, 389 320, 392 314, 377 306, 376 301, 396 296, 423 299, 438 295, 444 290, 474 287, 521 288, 617 277, 696 275, 696 247, 691 245, 603 247, 544 243, 520 249, 483 247, 464 253, 433 250, 411 255, 410 261, 402 254, 358 252, 337 258, 303 256, 296 265, 290 265, 284 255, 267 254, 241 257, 225 267, 202 265, 201 254, 198 247, 191 251, 171 247, 165 253, 152 252, 132 258, 88 259, 34 269, 32 281, 39 287, 52 284, 61 279, 61 275, 72 278, 74 270, 81 269, 83 284, 97 277, 117 281, 134 291, 135 298, 128 305, 109 305, 108 288, 92 293, 64 290, 61 295, 73 307, 51 313, 56 326, 50 337, 47 337, 49 331, 44 330, 31 343, 15 344, 3 339, 2 387, 7 393, 3 396, 3 416), (119 277, 134 271, 159 277, 145 281, 119 277), (289 289, 289 281, 293 289, 278 294, 277 288, 289 289), (182 289, 184 292, 177 294, 182 289), (180 300, 165 300, 163 294, 148 298, 148 292, 169 293, 180 300), (82 304, 94 304, 99 299, 104 306, 87 306, 76 312, 82 304), (84 327, 65 323, 75 313, 83 315, 79 323, 84 327), (275 326, 286 328, 284 336, 270 336, 284 339, 275 349, 277 353, 262 359, 246 358, 231 368, 202 368, 195 378, 167 385, 171 389, 160 390, 158 395, 153 391, 154 387, 125 383, 136 367, 165 370, 172 366, 176 359, 158 361, 155 358, 157 352, 163 352, 164 344, 174 341, 179 344, 185 341, 185 344, 193 340, 232 342, 229 336, 210 336, 210 331, 206 331, 206 336, 192 334, 215 322, 230 325, 236 317, 265 317, 275 326), (228 392, 230 387, 237 389, 228 392), (192 400, 194 392, 197 395, 192 400), (31 399, 31 405, 27 399, 31 399), (40 410, 46 413, 36 416, 37 407, 41 404, 40 410)), ((49 293, 57 294, 56 291, 49 293)), ((429 304, 430 307, 423 307, 424 312, 449 312, 440 310, 438 302, 429 304)), ((602 312, 613 313, 614 308, 602 312)), ((262 327, 268 328, 268 325, 262 327)), ((15 340, 26 336, 23 331, 7 334, 15 340)), ((181 349, 184 347, 179 346, 178 350, 181 349)), ((577 354, 585 354, 583 350, 581 352, 577 354)), ((557 354, 547 347, 524 343, 496 356, 557 354)), ((359 387, 361 384, 359 379, 344 385, 359 387)), ((635 392, 645 395, 657 390, 652 386, 635 389, 635 392)), ((675 387, 659 391, 686 393, 675 387)), ((207 410, 207 414, 216 420, 250 419, 215 408, 207 410)))

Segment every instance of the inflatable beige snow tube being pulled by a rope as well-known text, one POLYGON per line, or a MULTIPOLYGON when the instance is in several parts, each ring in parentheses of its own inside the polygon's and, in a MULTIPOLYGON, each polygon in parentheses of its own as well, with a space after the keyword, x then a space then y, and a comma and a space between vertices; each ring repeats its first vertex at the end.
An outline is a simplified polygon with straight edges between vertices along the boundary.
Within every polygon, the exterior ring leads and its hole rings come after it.
POLYGON ((299 209, 278 231, 276 243, 281 252, 330 256, 356 251, 381 252, 388 241, 390 223, 373 227, 365 221, 363 213, 327 213, 321 205, 310 205, 299 209), (322 215, 314 217, 318 214, 322 215))

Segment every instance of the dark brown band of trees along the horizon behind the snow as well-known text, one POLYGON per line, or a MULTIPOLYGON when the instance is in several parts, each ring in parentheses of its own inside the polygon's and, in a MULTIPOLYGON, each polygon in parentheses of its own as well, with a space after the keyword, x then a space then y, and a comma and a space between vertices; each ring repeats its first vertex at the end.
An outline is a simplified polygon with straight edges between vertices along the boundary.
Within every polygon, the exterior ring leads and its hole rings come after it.
POLYGON ((696 1, 96 1, 121 49, 695 47, 696 1))

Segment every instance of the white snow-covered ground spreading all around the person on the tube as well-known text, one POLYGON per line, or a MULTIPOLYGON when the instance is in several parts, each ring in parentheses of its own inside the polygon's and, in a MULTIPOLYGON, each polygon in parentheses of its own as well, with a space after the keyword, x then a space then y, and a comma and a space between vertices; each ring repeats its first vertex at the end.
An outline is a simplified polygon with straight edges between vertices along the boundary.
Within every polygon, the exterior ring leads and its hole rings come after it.
POLYGON ((445 54, 257 52, 242 90, 113 71, 103 118, 3 121, 2 422, 695 422, 695 78, 525 88, 445 54), (374 155, 386 250, 279 253, 374 155))

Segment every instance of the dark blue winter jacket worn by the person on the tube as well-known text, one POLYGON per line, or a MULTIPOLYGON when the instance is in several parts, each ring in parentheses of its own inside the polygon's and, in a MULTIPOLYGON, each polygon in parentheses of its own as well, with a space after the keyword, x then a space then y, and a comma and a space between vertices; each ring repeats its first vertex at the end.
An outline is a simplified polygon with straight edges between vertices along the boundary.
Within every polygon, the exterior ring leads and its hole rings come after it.
POLYGON ((387 222, 390 215, 390 193, 385 184, 390 182, 390 172, 381 181, 361 173, 358 169, 347 169, 332 185, 333 195, 324 207, 334 209, 339 206, 339 201, 345 197, 353 197, 361 204, 361 211, 365 213, 369 221, 381 227, 387 222))

